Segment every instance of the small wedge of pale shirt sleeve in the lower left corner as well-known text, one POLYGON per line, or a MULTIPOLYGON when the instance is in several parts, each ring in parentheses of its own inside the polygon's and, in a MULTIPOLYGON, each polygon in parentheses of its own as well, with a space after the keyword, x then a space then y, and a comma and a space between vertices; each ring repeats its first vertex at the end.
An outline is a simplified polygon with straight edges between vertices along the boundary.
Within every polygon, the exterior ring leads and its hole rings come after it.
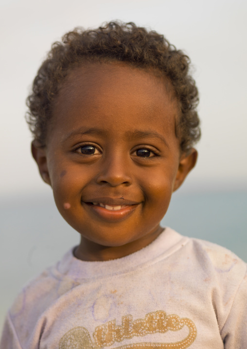
POLYGON ((11 318, 9 314, 7 314, 1 341, 0 341, 0 349, 22 349, 17 332, 15 330, 15 327, 11 321, 11 318))

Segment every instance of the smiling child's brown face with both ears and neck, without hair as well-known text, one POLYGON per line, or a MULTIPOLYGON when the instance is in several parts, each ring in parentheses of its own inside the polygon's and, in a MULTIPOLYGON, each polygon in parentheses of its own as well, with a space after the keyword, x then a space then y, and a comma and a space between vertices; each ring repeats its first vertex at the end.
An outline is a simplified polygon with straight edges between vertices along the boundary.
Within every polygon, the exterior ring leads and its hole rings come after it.
POLYGON ((180 154, 177 115, 169 83, 151 72, 104 63, 69 73, 47 146, 32 150, 58 210, 82 236, 78 258, 119 258, 159 235, 196 161, 195 150, 180 154))

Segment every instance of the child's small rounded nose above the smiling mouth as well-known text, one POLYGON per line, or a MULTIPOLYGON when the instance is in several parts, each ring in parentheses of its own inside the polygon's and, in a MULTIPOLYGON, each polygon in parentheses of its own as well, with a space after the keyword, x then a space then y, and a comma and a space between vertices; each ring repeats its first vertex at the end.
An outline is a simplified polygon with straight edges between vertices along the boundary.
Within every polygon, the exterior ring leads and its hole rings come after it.
POLYGON ((111 154, 103 159, 99 175, 96 176, 98 184, 109 184, 111 187, 120 185, 129 186, 132 183, 131 164, 124 159, 123 154, 111 154))

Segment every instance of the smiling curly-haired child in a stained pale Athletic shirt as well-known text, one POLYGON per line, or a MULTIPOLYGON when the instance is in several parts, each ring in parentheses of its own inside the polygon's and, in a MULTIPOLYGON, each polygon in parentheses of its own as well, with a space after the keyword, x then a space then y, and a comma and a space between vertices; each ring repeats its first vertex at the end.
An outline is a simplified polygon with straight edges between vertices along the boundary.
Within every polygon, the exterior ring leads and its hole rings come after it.
POLYGON ((79 246, 26 286, 1 349, 247 348, 247 265, 160 227, 194 167, 189 59, 133 23, 55 43, 28 98, 32 153, 79 246))

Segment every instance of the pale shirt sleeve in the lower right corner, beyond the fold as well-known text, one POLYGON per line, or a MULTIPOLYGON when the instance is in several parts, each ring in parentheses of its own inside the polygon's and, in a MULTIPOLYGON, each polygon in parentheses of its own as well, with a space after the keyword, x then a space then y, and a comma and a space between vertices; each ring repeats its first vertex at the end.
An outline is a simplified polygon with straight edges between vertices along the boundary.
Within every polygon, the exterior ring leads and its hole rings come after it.
POLYGON ((221 332, 225 349, 247 348, 247 273, 221 332))

